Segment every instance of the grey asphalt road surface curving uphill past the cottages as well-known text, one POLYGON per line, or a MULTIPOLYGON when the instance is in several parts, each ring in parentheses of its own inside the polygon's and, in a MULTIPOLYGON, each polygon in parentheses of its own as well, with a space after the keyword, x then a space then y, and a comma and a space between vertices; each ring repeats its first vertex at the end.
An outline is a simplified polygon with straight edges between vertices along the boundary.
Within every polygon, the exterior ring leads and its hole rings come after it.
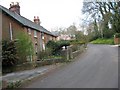
POLYGON ((26 88, 118 88, 118 47, 89 44, 76 61, 26 88))

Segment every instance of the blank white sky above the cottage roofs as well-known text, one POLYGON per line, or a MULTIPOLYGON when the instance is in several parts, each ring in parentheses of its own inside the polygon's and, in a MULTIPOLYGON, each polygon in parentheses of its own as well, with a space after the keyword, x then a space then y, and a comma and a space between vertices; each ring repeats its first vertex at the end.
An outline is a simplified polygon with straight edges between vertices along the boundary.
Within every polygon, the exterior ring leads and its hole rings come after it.
POLYGON ((11 2, 20 3, 22 16, 33 21, 39 16, 41 25, 48 30, 69 27, 80 23, 83 0, 0 0, 0 5, 9 8, 11 2))

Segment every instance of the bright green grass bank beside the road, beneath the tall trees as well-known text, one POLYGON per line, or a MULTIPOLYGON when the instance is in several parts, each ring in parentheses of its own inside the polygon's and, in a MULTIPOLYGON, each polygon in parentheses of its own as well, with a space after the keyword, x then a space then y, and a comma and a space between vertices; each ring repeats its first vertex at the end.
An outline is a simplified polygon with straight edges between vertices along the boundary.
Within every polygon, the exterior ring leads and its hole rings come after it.
POLYGON ((94 41, 91 41, 90 43, 92 43, 92 44, 110 44, 110 45, 114 45, 114 40, 113 40, 113 38, 110 38, 110 39, 99 38, 99 39, 96 39, 94 41))

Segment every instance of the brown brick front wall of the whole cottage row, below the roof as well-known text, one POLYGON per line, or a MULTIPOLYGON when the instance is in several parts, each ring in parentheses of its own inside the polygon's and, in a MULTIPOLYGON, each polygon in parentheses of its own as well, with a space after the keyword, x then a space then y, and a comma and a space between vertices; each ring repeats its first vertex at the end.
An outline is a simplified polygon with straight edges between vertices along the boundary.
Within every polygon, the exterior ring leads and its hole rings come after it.
POLYGON ((37 49, 37 52, 39 52, 40 50, 42 50, 43 43, 46 44, 51 39, 55 40, 55 37, 46 33, 44 33, 44 40, 43 40, 41 38, 41 32, 34 30, 32 28, 24 27, 22 24, 17 22, 15 19, 11 18, 6 13, 2 14, 2 39, 3 40, 10 40, 10 23, 11 23, 12 33, 13 33, 13 39, 15 39, 16 35, 21 31, 27 33, 30 36, 33 42, 34 51, 35 51, 34 59, 37 59, 36 49, 37 49), (29 34, 28 29, 30 29, 31 34, 29 34), (36 31, 37 37, 34 37, 34 31, 36 31))

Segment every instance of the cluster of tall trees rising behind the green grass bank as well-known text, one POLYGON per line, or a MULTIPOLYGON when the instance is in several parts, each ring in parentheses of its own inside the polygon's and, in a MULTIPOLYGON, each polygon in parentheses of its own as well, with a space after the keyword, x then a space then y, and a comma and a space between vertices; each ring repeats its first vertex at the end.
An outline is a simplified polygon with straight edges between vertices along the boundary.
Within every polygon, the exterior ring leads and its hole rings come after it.
POLYGON ((111 38, 120 33, 120 2, 84 2, 82 12, 92 39, 111 38))

